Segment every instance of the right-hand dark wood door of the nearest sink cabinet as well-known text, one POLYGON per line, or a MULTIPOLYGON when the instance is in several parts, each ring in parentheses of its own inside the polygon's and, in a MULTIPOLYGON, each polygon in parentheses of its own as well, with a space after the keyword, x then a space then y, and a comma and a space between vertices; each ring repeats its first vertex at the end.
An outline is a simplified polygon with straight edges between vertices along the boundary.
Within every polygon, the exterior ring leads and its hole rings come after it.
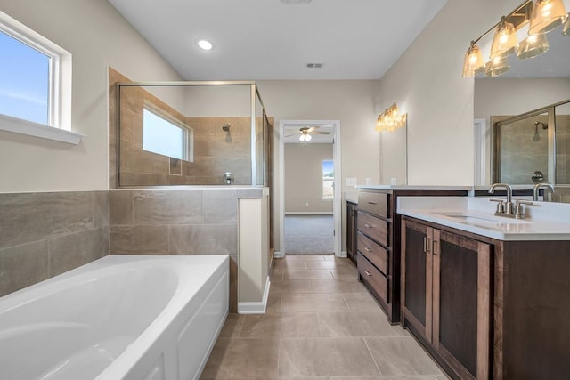
POLYGON ((460 378, 489 378, 491 246, 433 236, 432 344, 460 378))

